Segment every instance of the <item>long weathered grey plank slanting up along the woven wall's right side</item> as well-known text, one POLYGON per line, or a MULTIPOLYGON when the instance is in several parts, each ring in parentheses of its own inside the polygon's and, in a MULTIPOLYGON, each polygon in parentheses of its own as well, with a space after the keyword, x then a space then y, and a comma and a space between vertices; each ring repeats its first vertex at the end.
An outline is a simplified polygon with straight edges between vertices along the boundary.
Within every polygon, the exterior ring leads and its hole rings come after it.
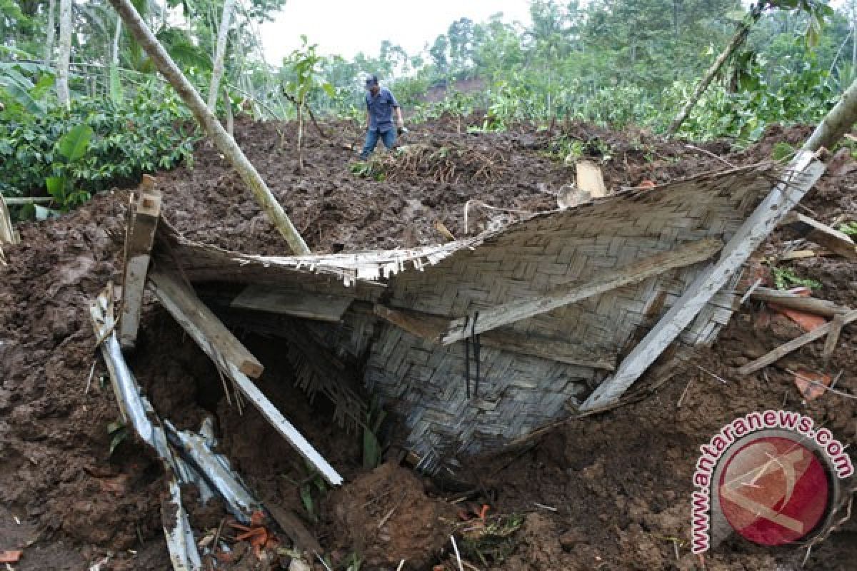
POLYGON ((728 241, 720 259, 699 273, 686 292, 620 363, 614 376, 598 385, 581 406, 581 410, 604 407, 618 400, 697 317, 708 301, 728 283, 735 271, 744 265, 776 224, 800 202, 823 173, 824 164, 815 158, 813 152, 799 152, 788 165, 788 170, 782 175, 780 182, 728 241))

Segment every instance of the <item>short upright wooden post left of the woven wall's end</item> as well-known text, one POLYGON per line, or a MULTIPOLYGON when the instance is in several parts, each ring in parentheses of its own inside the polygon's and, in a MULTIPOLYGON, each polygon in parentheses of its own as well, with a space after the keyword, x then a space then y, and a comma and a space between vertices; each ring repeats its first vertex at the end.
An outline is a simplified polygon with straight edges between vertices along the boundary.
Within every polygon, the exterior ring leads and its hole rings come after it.
POLYGON ((146 290, 146 274, 161 208, 160 191, 154 187, 152 176, 143 175, 137 192, 139 199, 131 217, 128 237, 125 239, 122 306, 118 329, 119 344, 123 349, 133 349, 137 342, 143 292, 146 290))

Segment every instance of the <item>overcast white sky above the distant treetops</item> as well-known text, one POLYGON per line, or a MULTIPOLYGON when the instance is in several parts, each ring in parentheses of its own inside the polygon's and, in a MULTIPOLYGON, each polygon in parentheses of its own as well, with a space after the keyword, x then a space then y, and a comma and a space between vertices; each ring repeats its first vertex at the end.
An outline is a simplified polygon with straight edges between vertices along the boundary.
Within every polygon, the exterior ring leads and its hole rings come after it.
POLYGON ((288 0, 261 33, 267 62, 274 65, 300 47, 302 33, 325 55, 351 58, 363 51, 377 56, 381 40, 389 39, 412 56, 458 18, 480 22, 502 12, 504 21, 529 24, 529 6, 528 0, 288 0))

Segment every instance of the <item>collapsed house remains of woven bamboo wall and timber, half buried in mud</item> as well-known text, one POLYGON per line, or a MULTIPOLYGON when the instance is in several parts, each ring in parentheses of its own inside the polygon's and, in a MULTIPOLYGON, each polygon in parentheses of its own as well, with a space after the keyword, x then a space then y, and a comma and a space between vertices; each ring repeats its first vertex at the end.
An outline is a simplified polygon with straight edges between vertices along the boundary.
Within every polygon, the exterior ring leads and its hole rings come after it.
MULTIPOLYGON (((401 419, 417 467, 454 472, 461 455, 601 406, 598 391, 615 388, 658 325, 675 329, 678 348, 712 342, 736 307, 737 266, 693 302, 686 326, 670 312, 686 310, 683 296, 728 259, 730 241, 767 235, 754 216, 772 187, 812 186, 823 165, 807 154, 785 186, 760 164, 411 250, 262 257, 161 223, 154 267, 225 324, 281 338, 297 383, 333 401, 340 424, 365 421, 351 389, 362 383, 401 419)), ((153 279, 162 301, 164 279, 153 279)))

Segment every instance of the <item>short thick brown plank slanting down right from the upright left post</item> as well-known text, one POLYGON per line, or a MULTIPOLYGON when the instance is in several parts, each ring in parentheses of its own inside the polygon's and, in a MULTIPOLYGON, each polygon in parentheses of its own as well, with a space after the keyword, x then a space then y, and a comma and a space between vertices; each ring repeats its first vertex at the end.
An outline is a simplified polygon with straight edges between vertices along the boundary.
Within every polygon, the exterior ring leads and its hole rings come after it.
MULTIPOLYGON (((166 306, 165 300, 169 301, 171 306, 175 306, 190 323, 195 324, 206 345, 211 346, 213 352, 222 356, 222 360, 234 363, 238 371, 249 377, 261 377, 265 367, 178 277, 164 271, 153 270, 149 272, 149 280, 161 303, 166 306)), ((175 314, 173 317, 176 317, 175 314)), ((181 323, 178 318, 176 319, 181 323)))

